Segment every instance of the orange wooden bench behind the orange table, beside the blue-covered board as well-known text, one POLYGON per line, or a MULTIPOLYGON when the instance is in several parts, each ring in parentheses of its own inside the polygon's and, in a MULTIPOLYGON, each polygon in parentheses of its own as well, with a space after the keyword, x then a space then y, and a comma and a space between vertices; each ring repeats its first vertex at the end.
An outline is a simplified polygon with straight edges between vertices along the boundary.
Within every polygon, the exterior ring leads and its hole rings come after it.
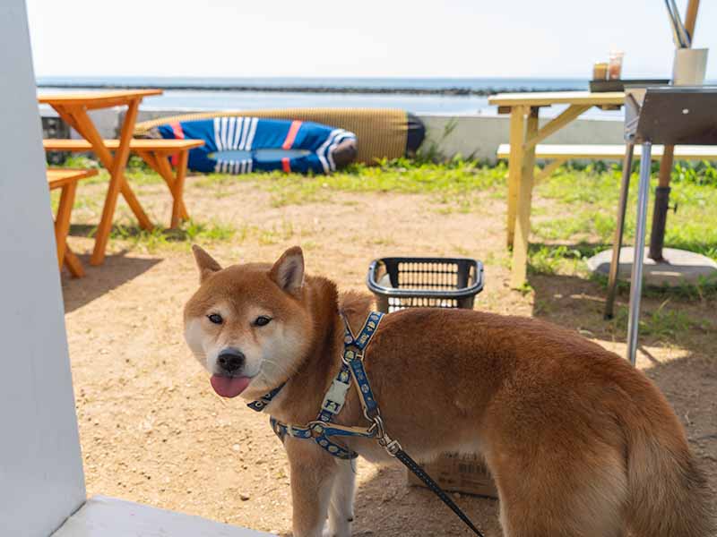
MULTIPOLYGON (((110 150, 119 148, 119 140, 105 140, 105 146, 110 150)), ((46 151, 91 151, 92 145, 86 140, 48 139, 42 144, 46 151)), ((184 202, 184 188, 186 178, 186 164, 189 158, 189 149, 204 145, 202 140, 144 140, 130 141, 130 150, 143 158, 151 169, 157 172, 172 194, 172 217, 170 227, 177 227, 179 221, 189 218, 184 202), (176 171, 172 171, 168 158, 173 158, 176 171)))

